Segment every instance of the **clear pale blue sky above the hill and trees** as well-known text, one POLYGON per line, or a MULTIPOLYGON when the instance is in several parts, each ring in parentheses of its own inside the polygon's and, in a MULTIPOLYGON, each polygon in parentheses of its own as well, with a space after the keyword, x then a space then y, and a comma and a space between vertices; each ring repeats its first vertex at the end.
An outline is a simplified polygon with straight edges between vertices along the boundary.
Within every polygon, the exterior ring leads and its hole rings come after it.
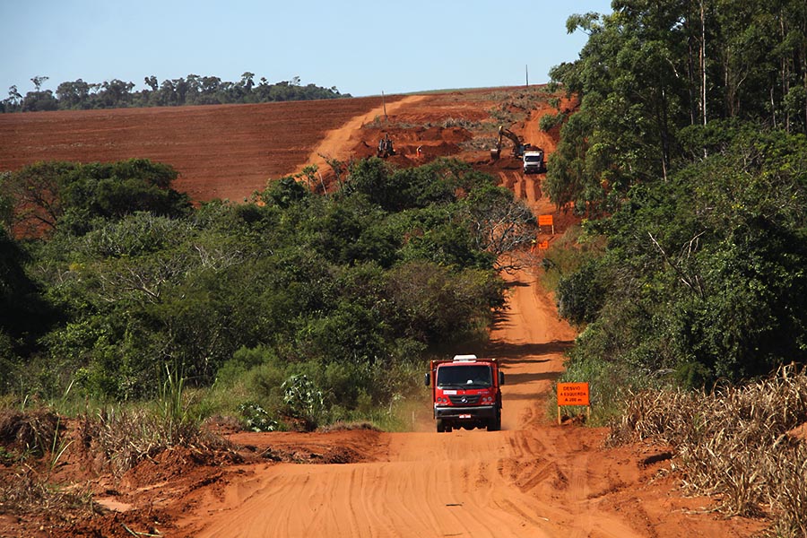
POLYGON ((0 100, 34 76, 60 82, 154 75, 313 83, 353 96, 547 82, 586 35, 572 13, 611 0, 0 0, 0 100))

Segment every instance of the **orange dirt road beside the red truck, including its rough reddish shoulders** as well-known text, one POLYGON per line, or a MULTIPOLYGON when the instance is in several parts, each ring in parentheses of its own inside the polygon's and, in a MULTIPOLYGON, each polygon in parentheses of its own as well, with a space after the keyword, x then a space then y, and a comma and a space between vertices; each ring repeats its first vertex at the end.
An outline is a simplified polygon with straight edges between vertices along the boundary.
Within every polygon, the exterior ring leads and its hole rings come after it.
POLYGON ((606 430, 548 421, 544 398, 574 334, 534 279, 519 275, 512 291, 488 353, 505 364, 502 431, 438 434, 429 421, 352 437, 239 434, 261 447, 277 447, 273 438, 319 450, 343 442, 369 461, 247 465, 214 495, 195 495, 176 535, 672 538, 759 528, 708 513, 707 499, 679 497, 669 462, 641 464, 660 448, 606 450, 606 430))

